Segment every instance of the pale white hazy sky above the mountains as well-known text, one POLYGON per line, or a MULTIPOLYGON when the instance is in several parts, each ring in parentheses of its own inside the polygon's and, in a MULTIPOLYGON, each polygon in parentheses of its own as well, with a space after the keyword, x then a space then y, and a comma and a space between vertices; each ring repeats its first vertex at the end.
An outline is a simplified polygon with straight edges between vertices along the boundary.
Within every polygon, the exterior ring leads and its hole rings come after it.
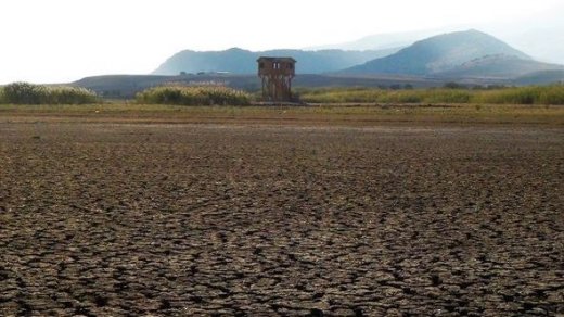
POLYGON ((146 74, 183 49, 303 48, 457 25, 497 26, 503 34, 503 25, 521 21, 525 31, 561 15, 562 2, 2 0, 0 84, 146 74))

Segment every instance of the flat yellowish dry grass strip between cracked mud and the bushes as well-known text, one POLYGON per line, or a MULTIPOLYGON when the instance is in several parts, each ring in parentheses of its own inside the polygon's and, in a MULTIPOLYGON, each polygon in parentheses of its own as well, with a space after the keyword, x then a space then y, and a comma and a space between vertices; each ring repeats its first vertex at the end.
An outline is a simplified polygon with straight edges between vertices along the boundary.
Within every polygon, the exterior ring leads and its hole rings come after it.
POLYGON ((89 105, 0 105, 4 119, 41 117, 50 121, 267 123, 373 125, 537 124, 564 125, 564 106, 555 105, 311 105, 311 106, 178 106, 106 103, 89 105))

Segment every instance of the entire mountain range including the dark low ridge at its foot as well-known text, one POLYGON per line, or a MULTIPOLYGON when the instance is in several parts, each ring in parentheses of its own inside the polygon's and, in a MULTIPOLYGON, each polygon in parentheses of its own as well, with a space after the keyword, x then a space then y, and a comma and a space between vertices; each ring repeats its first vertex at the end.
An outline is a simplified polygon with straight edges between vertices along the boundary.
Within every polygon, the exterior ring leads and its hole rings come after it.
MULTIPOLYGON (((397 43, 397 42, 396 42, 397 43)), ((184 50, 151 75, 97 76, 75 81, 110 97, 131 97, 164 83, 220 83, 246 90, 260 87, 256 60, 262 55, 297 60, 294 86, 436 87, 467 85, 546 85, 564 81, 564 66, 528 54, 478 30, 427 37, 405 47, 377 50, 271 50, 253 52, 184 50)))

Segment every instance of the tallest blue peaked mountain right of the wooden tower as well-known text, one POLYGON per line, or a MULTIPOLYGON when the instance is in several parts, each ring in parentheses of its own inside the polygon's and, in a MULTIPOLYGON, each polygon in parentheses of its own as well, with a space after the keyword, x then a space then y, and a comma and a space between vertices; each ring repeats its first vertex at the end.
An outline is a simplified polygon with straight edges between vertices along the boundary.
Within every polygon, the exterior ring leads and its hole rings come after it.
POLYGON ((488 55, 530 60, 525 53, 478 30, 456 31, 420 40, 399 52, 342 71, 346 74, 432 76, 488 55))

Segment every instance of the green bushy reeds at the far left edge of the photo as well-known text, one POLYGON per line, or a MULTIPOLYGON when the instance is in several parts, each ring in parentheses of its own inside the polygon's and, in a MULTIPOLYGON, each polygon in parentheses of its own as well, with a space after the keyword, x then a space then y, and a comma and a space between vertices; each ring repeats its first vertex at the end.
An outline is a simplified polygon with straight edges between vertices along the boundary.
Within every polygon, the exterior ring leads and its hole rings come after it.
POLYGON ((12 104, 86 104, 98 101, 94 92, 70 86, 13 83, 0 91, 0 102, 12 104))

